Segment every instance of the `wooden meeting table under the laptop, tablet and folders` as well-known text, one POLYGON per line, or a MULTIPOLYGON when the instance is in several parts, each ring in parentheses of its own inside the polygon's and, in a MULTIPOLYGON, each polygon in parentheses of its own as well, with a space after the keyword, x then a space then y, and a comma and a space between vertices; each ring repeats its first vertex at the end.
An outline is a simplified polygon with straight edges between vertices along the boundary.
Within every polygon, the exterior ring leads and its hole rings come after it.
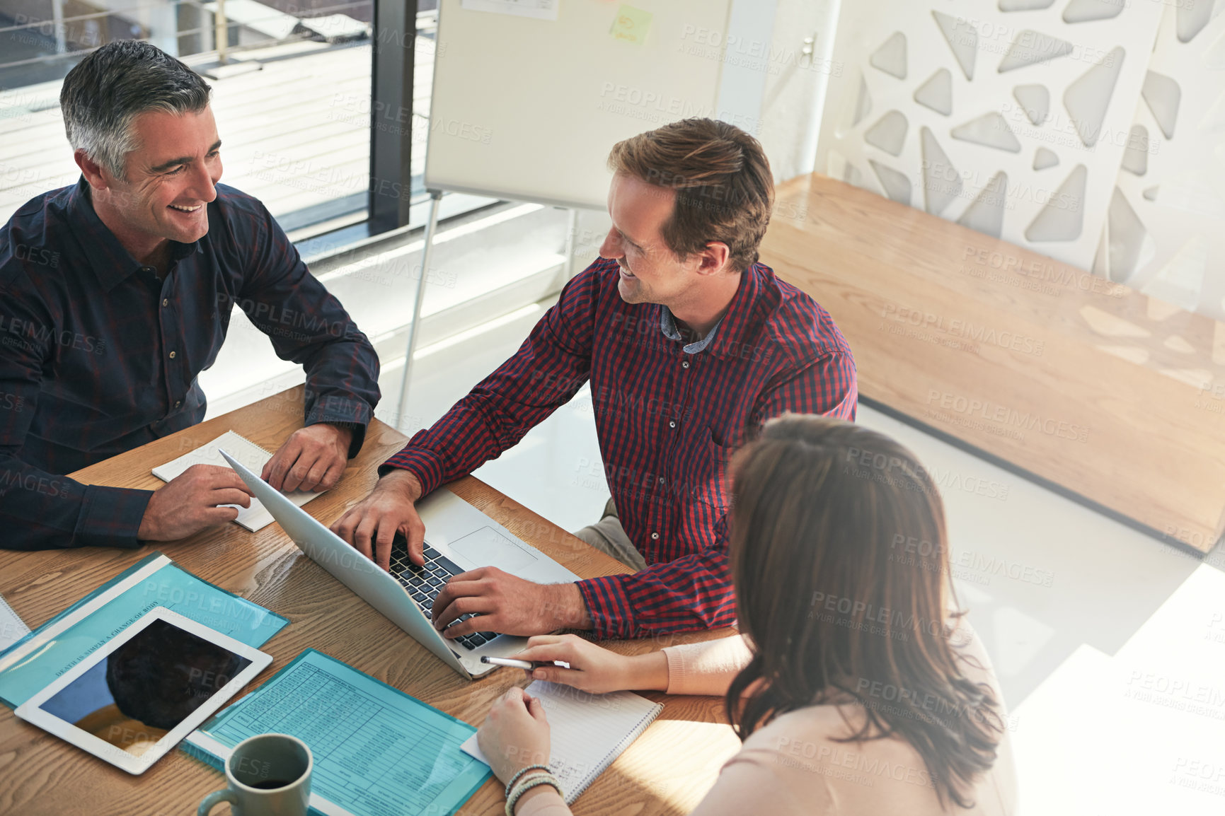
MULTIPOLYGON (((234 429, 276 450, 303 425, 301 387, 270 396, 180 431, 136 450, 72 473, 86 483, 156 488, 149 470, 234 429)), ((311 502, 307 510, 331 524, 365 497, 377 466, 405 439, 374 421, 361 453, 344 478, 311 502)), ((451 489, 508 530, 584 577, 625 571, 550 521, 516 504, 477 478, 451 489)), ((31 626, 38 626, 135 562, 159 549, 183 568, 289 619, 262 650, 272 666, 263 683, 304 648, 344 661, 472 724, 480 724, 494 700, 511 685, 526 685, 523 672, 499 669, 484 679, 461 678, 372 607, 353 595, 294 546, 279 525, 257 533, 225 525, 191 538, 136 551, 87 548, 17 553, 0 551, 0 593, 31 626)), ((726 636, 718 632, 663 636, 610 644, 622 653, 641 653, 674 642, 726 636)), ((739 750, 718 697, 668 697, 660 718, 575 804, 576 814, 687 814, 709 790, 719 767, 739 750)), ((0 814, 195 814, 224 777, 175 750, 140 777, 132 777, 0 707, 0 814)), ((501 814, 502 788, 483 785, 461 814, 501 814)), ((214 811, 224 814, 224 809, 214 811)))

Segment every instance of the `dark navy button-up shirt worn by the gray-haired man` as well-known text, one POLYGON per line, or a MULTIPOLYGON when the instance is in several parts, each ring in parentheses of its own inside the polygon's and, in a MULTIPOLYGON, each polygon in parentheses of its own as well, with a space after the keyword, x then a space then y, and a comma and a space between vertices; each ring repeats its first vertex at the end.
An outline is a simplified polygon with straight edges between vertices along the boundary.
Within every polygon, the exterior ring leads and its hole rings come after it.
POLYGON ((348 422, 354 455, 379 358, 255 198, 217 186, 208 234, 172 242, 164 278, 99 220, 82 177, 0 229, 0 546, 137 547, 151 491, 65 478, 200 422, 196 376, 238 305, 306 368, 306 425, 348 422))

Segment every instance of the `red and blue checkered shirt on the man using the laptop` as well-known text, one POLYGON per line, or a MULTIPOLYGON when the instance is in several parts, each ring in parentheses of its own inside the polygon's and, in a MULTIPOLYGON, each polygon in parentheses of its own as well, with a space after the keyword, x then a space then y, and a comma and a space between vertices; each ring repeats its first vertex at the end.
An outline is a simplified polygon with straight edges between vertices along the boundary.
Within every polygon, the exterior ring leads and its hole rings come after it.
POLYGON ((768 267, 741 273, 704 346, 686 351, 684 339, 670 339, 665 312, 621 300, 617 263, 600 258, 566 285, 513 357, 381 469, 412 471, 429 493, 518 443, 590 380, 609 488, 647 562, 639 573, 578 582, 598 637, 731 625, 731 451, 785 411, 855 418, 846 340, 768 267))

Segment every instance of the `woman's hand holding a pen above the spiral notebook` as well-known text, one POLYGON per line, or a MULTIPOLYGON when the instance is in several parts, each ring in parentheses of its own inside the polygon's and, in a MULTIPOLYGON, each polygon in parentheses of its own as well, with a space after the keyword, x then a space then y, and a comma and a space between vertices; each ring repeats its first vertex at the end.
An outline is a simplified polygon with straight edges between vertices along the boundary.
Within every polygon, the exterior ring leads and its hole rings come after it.
POLYGON ((544 666, 532 669, 535 680, 573 686, 579 691, 604 694, 622 689, 668 690, 668 658, 663 652, 626 657, 600 648, 578 635, 538 635, 514 656, 521 661, 561 661, 568 669, 544 666))

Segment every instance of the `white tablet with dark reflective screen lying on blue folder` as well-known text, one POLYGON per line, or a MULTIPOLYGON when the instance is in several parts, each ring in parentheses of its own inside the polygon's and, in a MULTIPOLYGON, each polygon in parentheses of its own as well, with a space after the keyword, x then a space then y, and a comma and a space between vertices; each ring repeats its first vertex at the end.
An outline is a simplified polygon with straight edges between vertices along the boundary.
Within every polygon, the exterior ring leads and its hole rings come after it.
POLYGON ((143 773, 271 662, 271 655, 154 607, 16 714, 143 773))

